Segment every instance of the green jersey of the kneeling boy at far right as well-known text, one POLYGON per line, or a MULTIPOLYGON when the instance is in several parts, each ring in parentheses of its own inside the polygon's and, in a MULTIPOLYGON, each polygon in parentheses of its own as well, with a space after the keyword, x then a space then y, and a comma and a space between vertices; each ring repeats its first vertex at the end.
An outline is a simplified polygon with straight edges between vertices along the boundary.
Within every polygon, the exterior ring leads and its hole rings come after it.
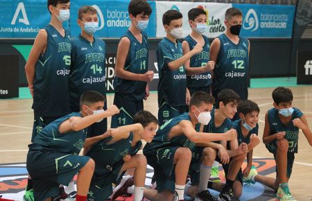
POLYGON ((275 108, 268 110, 270 134, 283 131, 286 132, 285 139, 288 140, 288 152, 298 152, 299 128, 293 125, 293 119, 301 118, 303 115, 299 109, 294 107, 293 110, 291 121, 288 125, 281 123, 281 119, 279 119, 279 110, 275 108))

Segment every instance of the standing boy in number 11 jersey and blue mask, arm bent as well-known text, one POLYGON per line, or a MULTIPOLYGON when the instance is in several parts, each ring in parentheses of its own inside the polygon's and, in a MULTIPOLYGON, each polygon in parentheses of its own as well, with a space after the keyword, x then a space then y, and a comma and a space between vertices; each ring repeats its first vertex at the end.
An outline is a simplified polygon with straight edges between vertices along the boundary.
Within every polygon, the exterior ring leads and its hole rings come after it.
POLYGON ((121 112, 113 116, 111 128, 133 123, 132 116, 143 110, 143 99, 149 94, 146 83, 154 76, 148 71, 148 37, 144 33, 152 9, 145 0, 132 0, 128 12, 132 22, 118 45, 114 79, 114 105, 121 112))

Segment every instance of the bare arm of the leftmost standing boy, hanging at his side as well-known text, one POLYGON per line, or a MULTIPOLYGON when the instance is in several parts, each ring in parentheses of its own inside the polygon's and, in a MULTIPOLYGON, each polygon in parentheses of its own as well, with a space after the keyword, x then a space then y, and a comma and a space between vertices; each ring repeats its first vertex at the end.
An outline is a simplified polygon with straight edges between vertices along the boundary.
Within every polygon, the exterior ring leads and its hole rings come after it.
POLYGON ((33 80, 35 79, 35 65, 40 56, 40 53, 43 53, 46 44, 47 44, 48 34, 45 29, 41 29, 35 38, 35 42, 33 43, 33 48, 31 49, 31 53, 29 53, 28 60, 25 65, 25 72, 28 82, 28 88, 33 95, 33 80))

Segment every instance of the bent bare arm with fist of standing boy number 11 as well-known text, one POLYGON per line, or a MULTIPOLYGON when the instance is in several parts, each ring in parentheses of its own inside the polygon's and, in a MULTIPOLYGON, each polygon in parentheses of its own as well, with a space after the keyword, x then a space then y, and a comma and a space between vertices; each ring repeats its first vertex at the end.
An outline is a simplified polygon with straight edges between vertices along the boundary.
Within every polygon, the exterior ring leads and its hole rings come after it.
POLYGON ((132 73, 130 71, 125 71, 125 59, 128 56, 130 50, 130 40, 128 37, 121 38, 116 55, 116 66, 115 73, 116 77, 123 78, 125 80, 139 80, 144 82, 150 82, 153 80, 154 73, 153 71, 147 71, 144 74, 132 73))

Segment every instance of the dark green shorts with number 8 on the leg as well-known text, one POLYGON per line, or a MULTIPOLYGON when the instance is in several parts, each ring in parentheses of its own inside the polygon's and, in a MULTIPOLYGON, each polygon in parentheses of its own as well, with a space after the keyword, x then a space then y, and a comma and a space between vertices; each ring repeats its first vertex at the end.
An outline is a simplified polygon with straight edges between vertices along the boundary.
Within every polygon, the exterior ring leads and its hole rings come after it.
POLYGON ((158 110, 158 125, 163 125, 164 123, 166 123, 166 121, 173 119, 173 117, 175 116, 180 116, 180 114, 183 114, 187 111, 187 105, 171 107, 167 105, 166 102, 164 102, 158 110))

